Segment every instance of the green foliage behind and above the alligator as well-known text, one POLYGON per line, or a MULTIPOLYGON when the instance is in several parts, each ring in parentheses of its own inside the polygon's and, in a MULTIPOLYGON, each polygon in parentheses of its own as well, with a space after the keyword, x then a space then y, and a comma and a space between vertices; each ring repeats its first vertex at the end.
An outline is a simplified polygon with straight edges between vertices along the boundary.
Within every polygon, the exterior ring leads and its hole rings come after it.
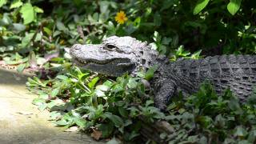
MULTIPOLYGON (((254 54, 253 6, 253 0, 1 0, 0 57, 16 62, 13 54, 31 58, 33 51, 47 62, 49 54, 59 57, 66 46, 99 43, 114 34, 150 42, 170 57, 180 46, 206 55, 254 54), (120 10, 123 24, 115 22, 120 10)), ((18 64, 28 67, 31 59, 18 64)))

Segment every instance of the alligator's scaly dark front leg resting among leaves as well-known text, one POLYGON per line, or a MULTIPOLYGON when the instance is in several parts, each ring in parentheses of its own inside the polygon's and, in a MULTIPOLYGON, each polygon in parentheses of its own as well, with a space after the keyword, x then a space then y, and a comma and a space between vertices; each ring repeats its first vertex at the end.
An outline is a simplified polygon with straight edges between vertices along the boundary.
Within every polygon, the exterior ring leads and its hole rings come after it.
POLYGON ((170 79, 164 79, 157 82, 154 86, 154 104, 160 110, 166 110, 166 104, 170 98, 176 94, 177 86, 170 79))

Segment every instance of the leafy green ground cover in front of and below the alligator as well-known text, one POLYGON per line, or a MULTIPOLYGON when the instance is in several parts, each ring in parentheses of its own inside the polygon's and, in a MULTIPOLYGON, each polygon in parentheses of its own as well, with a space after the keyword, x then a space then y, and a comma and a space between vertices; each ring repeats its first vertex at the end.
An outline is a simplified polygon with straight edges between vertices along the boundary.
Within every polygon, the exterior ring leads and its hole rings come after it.
POLYGON ((140 142, 139 117, 143 116, 152 124, 158 120, 169 122, 173 134, 161 137, 170 143, 256 142, 255 95, 241 105, 230 90, 217 95, 205 82, 196 94, 180 94, 162 113, 154 107, 150 90, 142 84, 146 75, 140 76, 124 75, 114 82, 71 67, 67 74, 55 79, 29 79, 27 86, 39 94, 34 104, 40 110, 50 110, 56 125, 98 130, 101 138, 115 135, 122 141, 140 142))

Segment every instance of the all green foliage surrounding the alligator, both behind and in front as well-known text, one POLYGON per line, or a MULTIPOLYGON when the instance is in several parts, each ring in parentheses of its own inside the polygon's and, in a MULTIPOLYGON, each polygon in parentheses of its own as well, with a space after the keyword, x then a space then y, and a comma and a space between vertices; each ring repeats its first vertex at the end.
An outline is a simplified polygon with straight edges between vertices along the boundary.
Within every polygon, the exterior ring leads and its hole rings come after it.
POLYGON ((254 103, 242 106, 228 90, 217 97, 205 84, 162 113, 142 85, 155 67, 139 78, 126 74, 114 81, 71 66, 66 53, 74 43, 130 35, 171 60, 255 54, 254 6, 254 0, 0 0, 0 59, 18 71, 39 70, 27 86, 39 95, 34 104, 51 110, 58 126, 140 142, 143 116, 150 124, 169 122, 174 133, 161 137, 170 143, 255 142, 254 103), (125 18, 116 22, 120 11, 125 18))

